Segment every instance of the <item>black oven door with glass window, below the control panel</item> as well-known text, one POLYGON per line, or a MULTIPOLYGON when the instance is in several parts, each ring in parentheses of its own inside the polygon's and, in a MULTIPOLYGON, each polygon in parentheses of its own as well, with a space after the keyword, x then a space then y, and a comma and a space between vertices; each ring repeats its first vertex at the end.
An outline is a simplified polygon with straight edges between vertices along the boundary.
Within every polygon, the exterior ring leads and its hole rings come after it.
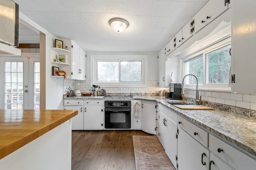
POLYGON ((131 128, 131 108, 105 108, 105 128, 106 129, 130 129, 131 128))

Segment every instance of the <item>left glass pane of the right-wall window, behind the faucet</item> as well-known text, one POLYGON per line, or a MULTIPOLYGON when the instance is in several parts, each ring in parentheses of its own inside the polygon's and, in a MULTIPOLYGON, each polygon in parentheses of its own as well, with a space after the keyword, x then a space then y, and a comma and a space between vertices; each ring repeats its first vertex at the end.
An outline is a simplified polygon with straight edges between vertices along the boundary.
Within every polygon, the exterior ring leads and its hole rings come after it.
MULTIPOLYGON (((186 74, 194 74, 198 78, 198 84, 203 83, 203 57, 185 63, 186 74)), ((196 84, 194 76, 186 76, 186 84, 196 84)))

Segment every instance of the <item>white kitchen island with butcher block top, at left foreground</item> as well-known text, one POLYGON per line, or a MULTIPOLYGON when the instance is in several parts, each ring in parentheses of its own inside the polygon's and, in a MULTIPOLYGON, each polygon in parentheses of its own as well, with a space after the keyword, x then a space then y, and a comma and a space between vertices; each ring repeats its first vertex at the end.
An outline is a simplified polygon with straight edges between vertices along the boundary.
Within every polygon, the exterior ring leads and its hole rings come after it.
POLYGON ((0 109, 0 169, 71 169, 77 110, 0 109))

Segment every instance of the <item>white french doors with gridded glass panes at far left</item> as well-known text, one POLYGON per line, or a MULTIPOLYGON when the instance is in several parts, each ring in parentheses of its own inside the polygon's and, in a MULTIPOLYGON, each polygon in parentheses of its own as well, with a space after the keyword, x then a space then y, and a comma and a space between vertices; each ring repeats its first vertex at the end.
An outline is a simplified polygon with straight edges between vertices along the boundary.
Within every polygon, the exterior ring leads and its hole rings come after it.
POLYGON ((0 57, 3 109, 40 109, 39 57, 0 57))

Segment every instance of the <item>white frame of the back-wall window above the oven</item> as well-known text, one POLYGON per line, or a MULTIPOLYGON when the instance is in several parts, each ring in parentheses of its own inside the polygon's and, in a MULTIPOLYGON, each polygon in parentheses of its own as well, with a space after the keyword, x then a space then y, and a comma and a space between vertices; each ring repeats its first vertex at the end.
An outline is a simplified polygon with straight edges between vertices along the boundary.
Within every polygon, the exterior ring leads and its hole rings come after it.
POLYGON ((147 87, 148 82, 148 55, 91 55, 90 56, 90 86, 96 84, 102 87, 147 87), (98 62, 118 61, 141 61, 142 81, 141 82, 120 82, 120 65, 118 82, 98 82, 98 62))

